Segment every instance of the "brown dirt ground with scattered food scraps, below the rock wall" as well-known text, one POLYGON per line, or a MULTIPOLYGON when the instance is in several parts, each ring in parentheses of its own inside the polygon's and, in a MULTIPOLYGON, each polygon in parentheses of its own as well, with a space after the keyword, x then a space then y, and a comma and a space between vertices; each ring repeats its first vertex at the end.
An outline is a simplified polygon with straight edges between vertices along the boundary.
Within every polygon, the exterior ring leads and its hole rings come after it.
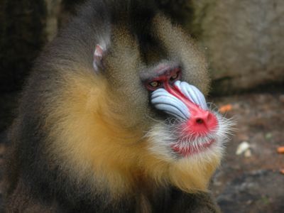
MULTIPOLYGON (((10 122, 15 101, 0 97, 0 127, 10 122), (3 103, 3 104, 2 104, 3 103), (4 122, 5 120, 5 122, 4 122)), ((226 117, 234 117, 236 131, 226 144, 222 167, 212 180, 212 192, 223 212, 284 212, 284 92, 249 93, 212 98, 217 107, 231 104, 226 117), (236 154, 246 142, 245 153, 236 154)), ((3 129, 3 128, 2 128, 3 129)), ((4 141, 1 129, 0 141, 4 141)), ((5 144, 0 143, 0 164, 5 144)), ((1 173, 0 173, 1 174, 1 173)))

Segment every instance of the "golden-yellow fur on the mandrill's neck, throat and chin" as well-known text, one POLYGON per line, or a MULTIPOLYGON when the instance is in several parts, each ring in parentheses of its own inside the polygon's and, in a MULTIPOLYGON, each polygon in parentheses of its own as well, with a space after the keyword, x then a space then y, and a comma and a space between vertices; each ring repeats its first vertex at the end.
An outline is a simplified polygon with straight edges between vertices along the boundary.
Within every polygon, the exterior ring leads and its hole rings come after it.
MULTIPOLYGON (((109 109, 104 79, 70 76, 46 124, 50 129, 50 158, 56 155, 77 181, 95 180, 114 197, 141 187, 174 185, 186 192, 207 190, 221 154, 208 162, 198 158, 163 160, 149 151, 151 141, 139 129, 124 129, 109 109), (91 88, 91 89, 90 89, 91 88), (61 103, 64 103, 63 105, 61 103), (56 121, 54 121, 56 120, 56 121), (80 174, 80 175, 78 175, 80 174), (96 175, 99 174, 99 175, 96 175)), ((118 102, 112 99, 111 102, 118 102)))

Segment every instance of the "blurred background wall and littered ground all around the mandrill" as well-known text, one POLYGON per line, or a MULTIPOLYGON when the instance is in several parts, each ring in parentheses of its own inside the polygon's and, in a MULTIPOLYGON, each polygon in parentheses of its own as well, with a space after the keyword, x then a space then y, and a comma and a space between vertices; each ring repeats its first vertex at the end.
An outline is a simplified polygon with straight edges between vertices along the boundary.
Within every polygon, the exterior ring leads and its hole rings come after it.
MULTIPOLYGON (((284 1, 156 1, 204 49, 209 101, 237 121, 212 180, 223 212, 284 212, 284 1)), ((33 61, 83 2, 0 1, 0 163, 33 61)))

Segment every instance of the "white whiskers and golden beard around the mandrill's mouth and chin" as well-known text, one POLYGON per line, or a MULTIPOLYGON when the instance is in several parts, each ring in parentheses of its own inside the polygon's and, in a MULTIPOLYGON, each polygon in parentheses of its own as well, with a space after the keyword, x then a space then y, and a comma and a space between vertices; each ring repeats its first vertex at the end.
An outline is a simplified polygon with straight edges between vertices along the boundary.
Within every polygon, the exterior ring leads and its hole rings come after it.
MULTIPOLYGON (((177 138, 175 138, 174 131, 178 128, 165 124, 165 122, 159 122, 153 126, 151 131, 147 133, 147 137, 151 141, 149 151, 168 164, 164 168, 157 168, 159 172, 153 174, 153 176, 156 176, 156 180, 165 182, 165 178, 158 177, 162 173, 168 177, 166 182, 185 192, 207 190, 209 180, 222 160, 224 144, 229 140, 229 135, 234 126, 234 120, 226 119, 216 111, 214 114, 219 123, 218 129, 210 135, 214 138, 214 143, 204 151, 184 157, 174 153, 170 148, 170 144, 176 143, 177 138), (161 172, 160 170, 163 169, 164 172, 161 172)), ((175 125, 175 122, 173 122, 173 125, 175 125)))

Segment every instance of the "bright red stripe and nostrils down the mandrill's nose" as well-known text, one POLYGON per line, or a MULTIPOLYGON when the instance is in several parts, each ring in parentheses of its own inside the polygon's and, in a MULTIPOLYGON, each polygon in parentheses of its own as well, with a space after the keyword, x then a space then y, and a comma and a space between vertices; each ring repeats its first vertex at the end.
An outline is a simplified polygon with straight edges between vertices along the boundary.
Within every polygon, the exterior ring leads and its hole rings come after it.
POLYGON ((188 111, 190 111, 190 118, 184 126, 187 133, 193 136, 202 136, 217 128, 218 122, 214 114, 202 109, 199 105, 185 97, 178 87, 171 86, 168 82, 165 82, 164 87, 170 94, 180 99, 187 106, 188 111))

